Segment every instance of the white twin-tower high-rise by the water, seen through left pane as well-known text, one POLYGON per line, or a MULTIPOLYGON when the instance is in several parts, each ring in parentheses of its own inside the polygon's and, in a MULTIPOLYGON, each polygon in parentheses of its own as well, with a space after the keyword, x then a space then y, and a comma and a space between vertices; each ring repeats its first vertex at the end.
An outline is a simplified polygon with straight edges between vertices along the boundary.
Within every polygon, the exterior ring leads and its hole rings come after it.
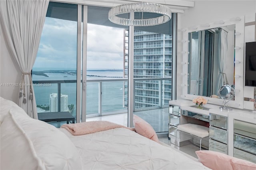
MULTIPOLYGON (((57 93, 50 94, 50 112, 58 112, 58 95, 57 93)), ((68 95, 60 94, 60 111, 68 111, 68 95)))

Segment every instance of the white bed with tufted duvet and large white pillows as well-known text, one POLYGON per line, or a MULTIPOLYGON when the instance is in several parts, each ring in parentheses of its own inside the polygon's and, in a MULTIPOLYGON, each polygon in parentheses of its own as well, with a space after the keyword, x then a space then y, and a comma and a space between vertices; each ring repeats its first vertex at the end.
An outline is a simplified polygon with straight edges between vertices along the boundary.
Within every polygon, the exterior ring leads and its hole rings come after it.
POLYGON ((0 169, 201 170, 197 159, 132 130, 113 128, 72 135, 32 119, 1 97, 0 169))

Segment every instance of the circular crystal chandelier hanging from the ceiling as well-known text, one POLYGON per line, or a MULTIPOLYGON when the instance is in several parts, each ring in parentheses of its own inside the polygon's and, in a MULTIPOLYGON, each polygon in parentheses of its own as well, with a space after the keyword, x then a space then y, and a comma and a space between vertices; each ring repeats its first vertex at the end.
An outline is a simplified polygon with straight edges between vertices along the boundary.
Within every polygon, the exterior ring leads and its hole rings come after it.
POLYGON ((108 19, 111 22, 123 26, 155 26, 159 24, 164 24, 168 22, 171 18, 172 12, 168 6, 148 2, 123 4, 111 8, 108 12, 108 19), (118 16, 119 14, 125 14, 129 12, 142 12, 142 19, 127 19, 118 16), (162 15, 156 18, 143 19, 143 12, 162 15))

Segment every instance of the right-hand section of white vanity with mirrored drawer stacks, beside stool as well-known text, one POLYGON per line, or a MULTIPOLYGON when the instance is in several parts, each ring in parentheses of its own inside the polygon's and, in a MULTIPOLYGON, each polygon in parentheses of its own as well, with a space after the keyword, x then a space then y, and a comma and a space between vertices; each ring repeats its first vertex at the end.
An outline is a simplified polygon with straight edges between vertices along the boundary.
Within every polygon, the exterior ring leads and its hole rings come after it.
POLYGON ((256 113, 210 109, 209 150, 256 163, 256 113))

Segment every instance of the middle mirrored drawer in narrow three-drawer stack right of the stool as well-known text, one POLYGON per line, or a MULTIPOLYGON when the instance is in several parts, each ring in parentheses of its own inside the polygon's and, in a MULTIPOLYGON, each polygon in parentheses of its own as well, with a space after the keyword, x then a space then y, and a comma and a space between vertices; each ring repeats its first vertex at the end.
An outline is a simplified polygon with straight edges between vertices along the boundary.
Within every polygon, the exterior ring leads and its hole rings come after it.
POLYGON ((210 126, 209 137, 219 142, 228 144, 228 131, 225 129, 210 126))

